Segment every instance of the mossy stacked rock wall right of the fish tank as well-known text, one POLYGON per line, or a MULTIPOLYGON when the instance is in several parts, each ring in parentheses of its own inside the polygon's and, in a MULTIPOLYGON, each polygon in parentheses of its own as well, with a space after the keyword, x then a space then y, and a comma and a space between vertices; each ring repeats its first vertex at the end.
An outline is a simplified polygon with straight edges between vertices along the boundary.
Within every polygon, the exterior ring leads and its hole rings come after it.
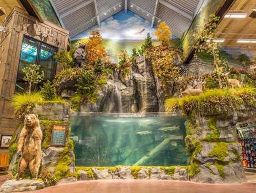
POLYGON ((239 111, 216 112, 187 118, 187 148, 191 153, 190 179, 201 183, 244 182, 236 123, 248 120, 253 112, 244 106, 239 111))

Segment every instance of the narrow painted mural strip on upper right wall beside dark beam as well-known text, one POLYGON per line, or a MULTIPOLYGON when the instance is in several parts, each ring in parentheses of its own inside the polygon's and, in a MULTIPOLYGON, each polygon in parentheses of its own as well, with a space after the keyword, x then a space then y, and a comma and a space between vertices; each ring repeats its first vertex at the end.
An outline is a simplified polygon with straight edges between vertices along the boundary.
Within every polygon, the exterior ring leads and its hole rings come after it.
POLYGON ((225 3, 223 0, 204 0, 201 8, 199 9, 193 23, 189 27, 188 31, 182 38, 182 47, 184 50, 184 56, 187 57, 191 52, 195 39, 193 34, 198 32, 208 22, 210 14, 216 14, 219 8, 225 3))

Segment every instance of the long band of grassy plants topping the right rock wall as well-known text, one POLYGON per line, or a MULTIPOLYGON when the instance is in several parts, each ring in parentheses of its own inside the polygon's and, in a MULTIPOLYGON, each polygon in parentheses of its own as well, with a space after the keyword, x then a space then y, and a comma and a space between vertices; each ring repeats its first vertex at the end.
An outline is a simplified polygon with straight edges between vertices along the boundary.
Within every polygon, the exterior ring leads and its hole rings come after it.
POLYGON ((254 88, 207 90, 198 96, 170 98, 165 101, 165 109, 169 112, 181 110, 185 115, 209 114, 219 111, 228 112, 236 110, 241 104, 253 108, 256 93, 254 88))

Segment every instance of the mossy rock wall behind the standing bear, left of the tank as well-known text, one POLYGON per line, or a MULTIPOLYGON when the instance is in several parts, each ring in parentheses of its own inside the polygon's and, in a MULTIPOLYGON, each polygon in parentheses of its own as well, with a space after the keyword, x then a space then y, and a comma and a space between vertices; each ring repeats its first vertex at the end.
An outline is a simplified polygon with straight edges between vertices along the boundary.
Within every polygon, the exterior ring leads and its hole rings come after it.
MULTIPOLYGON (((65 102, 45 103, 43 105, 36 105, 31 113, 38 115, 43 134, 41 144, 41 167, 38 178, 41 177, 40 174, 42 173, 42 170, 47 170, 50 175, 56 177, 56 180, 65 178, 65 175, 70 173, 74 173, 75 156, 73 153, 73 141, 69 139, 69 130, 67 131, 66 136, 66 147, 51 146, 53 124, 67 124, 69 128, 70 106, 65 102)), ((19 124, 13 134, 10 144, 10 178, 15 177, 17 174, 19 159, 16 155, 16 147, 23 125, 23 123, 19 124)), ((25 178, 30 177, 30 172, 27 170, 25 178)))

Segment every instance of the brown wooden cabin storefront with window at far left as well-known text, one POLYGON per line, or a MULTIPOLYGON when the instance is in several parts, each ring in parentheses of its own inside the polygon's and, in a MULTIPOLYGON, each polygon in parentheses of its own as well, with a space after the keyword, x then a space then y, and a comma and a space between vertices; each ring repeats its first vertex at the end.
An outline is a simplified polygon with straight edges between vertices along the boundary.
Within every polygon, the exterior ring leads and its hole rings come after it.
POLYGON ((44 81, 51 80, 61 68, 54 54, 67 50, 69 31, 62 28, 51 6, 42 16, 30 1, 0 0, 0 5, 0 167, 6 167, 8 145, 3 143, 19 123, 10 102, 15 92, 25 88, 22 68, 36 63, 44 71, 44 81))

